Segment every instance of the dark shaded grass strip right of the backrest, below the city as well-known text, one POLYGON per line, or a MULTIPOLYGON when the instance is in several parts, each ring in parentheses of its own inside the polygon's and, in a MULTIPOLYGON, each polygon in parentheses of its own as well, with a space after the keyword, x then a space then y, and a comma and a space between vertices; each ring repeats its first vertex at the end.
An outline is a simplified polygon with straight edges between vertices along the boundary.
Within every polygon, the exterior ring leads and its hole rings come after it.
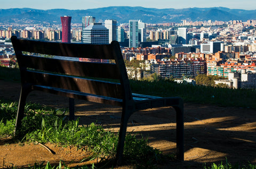
POLYGON ((256 108, 255 89, 228 89, 177 84, 169 80, 130 81, 132 91, 139 94, 181 97, 184 102, 256 108))

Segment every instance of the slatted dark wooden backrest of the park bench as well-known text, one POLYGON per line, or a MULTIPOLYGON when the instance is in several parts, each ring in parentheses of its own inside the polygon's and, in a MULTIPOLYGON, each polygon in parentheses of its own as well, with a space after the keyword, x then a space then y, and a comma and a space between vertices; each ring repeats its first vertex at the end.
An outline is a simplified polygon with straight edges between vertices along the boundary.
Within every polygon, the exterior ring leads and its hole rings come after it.
POLYGON ((19 39, 15 36, 11 41, 22 83, 122 100, 132 99, 129 79, 117 41, 111 44, 91 45, 19 39), (76 61, 70 60, 70 57, 76 61), (81 62, 79 58, 90 62, 81 62), (99 60, 112 62, 100 63, 99 60))

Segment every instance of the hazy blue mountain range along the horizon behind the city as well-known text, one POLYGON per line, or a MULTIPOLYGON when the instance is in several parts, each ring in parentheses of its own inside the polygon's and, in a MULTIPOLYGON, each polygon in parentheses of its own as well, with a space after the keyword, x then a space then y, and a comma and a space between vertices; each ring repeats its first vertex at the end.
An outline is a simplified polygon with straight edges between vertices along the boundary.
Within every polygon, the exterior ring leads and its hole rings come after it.
POLYGON ((71 16, 71 23, 82 23, 82 16, 94 16, 96 22, 106 19, 118 23, 129 23, 129 20, 141 20, 145 23, 166 23, 187 21, 230 21, 255 20, 256 10, 228 9, 226 7, 155 9, 146 7, 110 6, 88 10, 38 10, 38 9, 0 9, 0 23, 51 23, 60 24, 60 16, 71 16))

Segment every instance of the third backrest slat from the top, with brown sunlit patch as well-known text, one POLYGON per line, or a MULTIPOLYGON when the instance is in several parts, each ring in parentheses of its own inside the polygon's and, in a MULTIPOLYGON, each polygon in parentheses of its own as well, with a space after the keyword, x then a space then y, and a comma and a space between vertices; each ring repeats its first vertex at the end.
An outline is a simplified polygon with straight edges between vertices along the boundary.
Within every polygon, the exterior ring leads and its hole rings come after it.
POLYGON ((120 83, 33 71, 26 71, 25 81, 35 85, 49 86, 60 89, 85 92, 87 94, 123 99, 123 91, 120 83))

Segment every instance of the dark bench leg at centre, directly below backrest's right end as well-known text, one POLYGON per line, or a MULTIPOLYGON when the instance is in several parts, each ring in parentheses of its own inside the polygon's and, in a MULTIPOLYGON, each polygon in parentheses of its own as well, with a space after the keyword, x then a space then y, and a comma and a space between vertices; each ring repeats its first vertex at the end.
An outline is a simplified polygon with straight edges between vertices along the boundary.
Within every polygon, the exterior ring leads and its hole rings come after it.
POLYGON ((115 165, 121 166, 123 162, 123 153, 124 153, 124 142, 125 142, 125 136, 126 136, 126 129, 127 129, 127 123, 129 120, 129 113, 122 112, 122 119, 121 119, 121 126, 119 131, 119 140, 118 145, 116 149, 116 159, 115 159, 115 165))

